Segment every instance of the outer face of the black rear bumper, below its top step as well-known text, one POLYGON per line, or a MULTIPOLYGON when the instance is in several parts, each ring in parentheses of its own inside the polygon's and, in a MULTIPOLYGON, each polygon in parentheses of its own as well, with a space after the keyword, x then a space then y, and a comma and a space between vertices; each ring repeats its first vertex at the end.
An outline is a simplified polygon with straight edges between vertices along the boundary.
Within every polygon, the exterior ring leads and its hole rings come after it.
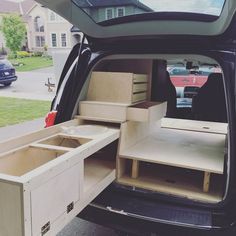
POLYGON ((235 227, 229 228, 192 228, 164 222, 153 221, 132 214, 110 211, 96 205, 86 207, 78 217, 93 223, 134 235, 160 236, 234 236, 235 227))

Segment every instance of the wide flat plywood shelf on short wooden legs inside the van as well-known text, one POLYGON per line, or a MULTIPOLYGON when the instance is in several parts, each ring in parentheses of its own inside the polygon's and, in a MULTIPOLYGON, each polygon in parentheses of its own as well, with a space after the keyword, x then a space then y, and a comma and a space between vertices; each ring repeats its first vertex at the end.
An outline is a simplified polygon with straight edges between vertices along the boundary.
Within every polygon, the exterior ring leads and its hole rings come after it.
POLYGON ((160 128, 120 157, 223 174, 225 135, 160 128))

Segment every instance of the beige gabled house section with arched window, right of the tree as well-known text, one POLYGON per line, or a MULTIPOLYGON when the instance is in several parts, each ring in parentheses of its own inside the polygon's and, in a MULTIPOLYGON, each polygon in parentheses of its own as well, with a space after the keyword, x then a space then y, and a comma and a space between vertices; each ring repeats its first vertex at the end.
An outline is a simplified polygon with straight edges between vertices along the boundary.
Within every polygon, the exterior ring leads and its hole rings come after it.
POLYGON ((55 12, 35 3, 27 12, 28 16, 28 48, 40 51, 47 48, 48 53, 71 49, 81 40, 82 32, 72 28, 68 21, 55 12))

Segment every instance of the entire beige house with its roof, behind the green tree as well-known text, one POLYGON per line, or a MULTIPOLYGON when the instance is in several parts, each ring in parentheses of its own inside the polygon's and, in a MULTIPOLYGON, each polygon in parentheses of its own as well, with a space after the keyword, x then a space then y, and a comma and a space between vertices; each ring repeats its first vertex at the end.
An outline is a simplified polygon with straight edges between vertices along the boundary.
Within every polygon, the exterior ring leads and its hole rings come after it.
MULTIPOLYGON (((0 22, 7 14, 18 14, 25 22, 27 35, 23 46, 29 51, 47 49, 49 54, 55 51, 67 51, 82 37, 82 32, 78 28, 33 0, 20 2, 1 0, 0 22)), ((6 46, 1 31, 0 46, 6 46)))

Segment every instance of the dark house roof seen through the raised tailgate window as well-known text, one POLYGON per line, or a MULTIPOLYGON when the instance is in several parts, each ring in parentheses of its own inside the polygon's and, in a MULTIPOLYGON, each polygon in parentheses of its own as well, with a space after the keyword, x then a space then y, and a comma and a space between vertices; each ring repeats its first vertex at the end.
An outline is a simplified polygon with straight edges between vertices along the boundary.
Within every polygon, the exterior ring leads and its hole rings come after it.
POLYGON ((153 11, 138 0, 74 0, 78 6, 82 8, 98 8, 98 7, 112 7, 112 6, 127 6, 134 5, 147 12, 153 11))

